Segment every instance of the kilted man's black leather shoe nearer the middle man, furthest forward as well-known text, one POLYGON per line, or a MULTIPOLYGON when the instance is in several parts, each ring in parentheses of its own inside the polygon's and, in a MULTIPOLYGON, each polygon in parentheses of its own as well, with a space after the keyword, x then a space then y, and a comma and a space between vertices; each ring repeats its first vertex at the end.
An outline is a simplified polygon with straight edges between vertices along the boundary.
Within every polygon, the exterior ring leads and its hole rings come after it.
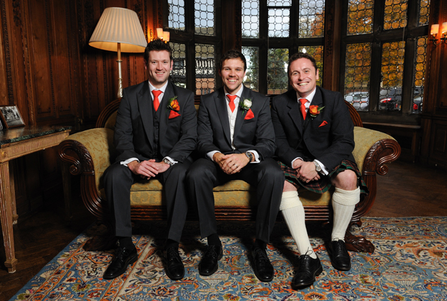
POLYGON ((318 256, 316 259, 311 258, 309 255, 299 256, 299 266, 292 279, 292 287, 302 288, 309 286, 315 282, 316 276, 319 276, 323 272, 320 259, 318 256))

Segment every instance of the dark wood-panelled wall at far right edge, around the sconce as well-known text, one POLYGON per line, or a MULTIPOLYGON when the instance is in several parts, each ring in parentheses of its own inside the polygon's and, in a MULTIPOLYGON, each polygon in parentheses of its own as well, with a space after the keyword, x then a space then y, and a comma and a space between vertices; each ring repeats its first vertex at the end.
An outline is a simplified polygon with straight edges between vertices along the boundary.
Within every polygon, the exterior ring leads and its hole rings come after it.
MULTIPOLYGON (((431 0, 430 26, 447 22, 447 1, 431 0)), ((439 42, 439 40, 438 40, 439 42)), ((421 116, 421 161, 447 169, 447 43, 434 45, 429 41, 428 67, 424 91, 424 111, 421 116)))

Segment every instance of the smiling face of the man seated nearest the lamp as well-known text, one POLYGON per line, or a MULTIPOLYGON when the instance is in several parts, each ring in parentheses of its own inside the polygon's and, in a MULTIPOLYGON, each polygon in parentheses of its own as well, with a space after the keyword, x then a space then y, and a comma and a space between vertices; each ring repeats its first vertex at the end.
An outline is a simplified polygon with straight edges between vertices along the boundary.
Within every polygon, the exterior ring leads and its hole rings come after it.
POLYGON ((169 52, 151 51, 149 52, 148 62, 145 62, 145 68, 149 70, 149 81, 155 88, 160 89, 166 84, 174 62, 170 60, 169 52))

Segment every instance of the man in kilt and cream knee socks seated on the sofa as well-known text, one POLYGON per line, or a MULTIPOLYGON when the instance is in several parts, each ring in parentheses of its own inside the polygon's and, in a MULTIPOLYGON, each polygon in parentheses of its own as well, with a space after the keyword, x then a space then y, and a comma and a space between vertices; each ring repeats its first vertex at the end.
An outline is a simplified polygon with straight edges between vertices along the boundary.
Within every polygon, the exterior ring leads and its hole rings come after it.
POLYGON ((297 188, 324 193, 335 186, 328 251, 332 266, 341 271, 351 268, 345 233, 360 192, 368 193, 368 188, 352 154, 354 126, 341 94, 316 86, 319 71, 306 53, 290 57, 288 74, 293 89, 273 98, 272 122, 276 154, 286 176, 280 210, 301 254, 292 280, 299 288, 314 283, 323 268, 309 242, 297 188))

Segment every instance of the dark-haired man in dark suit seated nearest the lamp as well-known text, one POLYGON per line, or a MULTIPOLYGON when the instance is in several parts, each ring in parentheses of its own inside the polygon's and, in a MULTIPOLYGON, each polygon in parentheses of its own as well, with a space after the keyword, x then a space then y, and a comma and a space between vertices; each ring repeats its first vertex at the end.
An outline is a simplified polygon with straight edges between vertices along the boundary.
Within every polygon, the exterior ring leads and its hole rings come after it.
POLYGON ((194 94, 168 81, 173 64, 169 45, 161 40, 148 43, 144 59, 148 81, 123 91, 114 134, 118 157, 104 173, 106 198, 114 212, 119 243, 104 279, 120 276, 138 259, 132 242, 131 186, 151 178, 157 178, 165 188, 167 276, 172 280, 184 276, 178 248, 187 214, 184 175, 197 144, 194 94))

